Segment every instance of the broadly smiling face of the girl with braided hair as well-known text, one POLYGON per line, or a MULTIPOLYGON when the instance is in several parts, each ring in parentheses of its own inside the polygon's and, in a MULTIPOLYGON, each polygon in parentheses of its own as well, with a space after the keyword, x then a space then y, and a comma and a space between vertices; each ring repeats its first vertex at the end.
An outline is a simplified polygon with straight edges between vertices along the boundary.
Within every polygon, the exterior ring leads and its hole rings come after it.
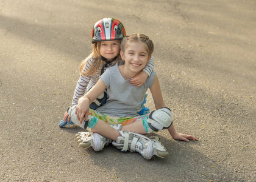
POLYGON ((126 70, 132 73, 139 73, 146 66, 151 58, 146 46, 143 42, 127 42, 126 49, 120 53, 126 70))

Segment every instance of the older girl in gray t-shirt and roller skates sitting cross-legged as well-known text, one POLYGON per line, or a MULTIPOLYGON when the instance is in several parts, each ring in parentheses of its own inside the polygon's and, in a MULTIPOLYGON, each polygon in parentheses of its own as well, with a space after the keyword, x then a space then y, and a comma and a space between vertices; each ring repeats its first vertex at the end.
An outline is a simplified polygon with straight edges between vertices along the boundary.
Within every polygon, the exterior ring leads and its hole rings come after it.
POLYGON ((137 151, 144 158, 152 155, 166 157, 168 152, 158 140, 147 138, 146 133, 168 129, 176 140, 197 140, 192 135, 177 133, 172 124, 171 110, 166 107, 157 75, 146 79, 141 87, 131 86, 129 79, 136 76, 151 58, 154 45, 148 36, 133 34, 121 42, 121 58, 124 64, 107 69, 98 83, 82 96, 77 106, 69 107, 71 121, 91 132, 78 133, 80 146, 92 146, 99 151, 112 143, 122 151, 137 151), (90 103, 105 89, 108 90, 107 103, 98 110, 90 109, 90 103), (155 108, 153 112, 138 116, 146 91, 150 89, 155 108), (112 126, 110 126, 112 125, 112 126))

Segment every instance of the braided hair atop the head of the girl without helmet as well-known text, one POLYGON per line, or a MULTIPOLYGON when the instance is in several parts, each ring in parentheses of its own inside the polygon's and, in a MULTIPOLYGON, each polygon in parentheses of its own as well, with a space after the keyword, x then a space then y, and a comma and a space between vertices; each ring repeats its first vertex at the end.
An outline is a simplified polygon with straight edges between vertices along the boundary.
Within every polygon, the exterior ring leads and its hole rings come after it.
POLYGON ((148 52, 149 56, 152 55, 154 52, 154 44, 151 39, 149 39, 148 36, 142 34, 142 33, 134 33, 131 35, 127 35, 125 38, 123 38, 123 41, 121 42, 121 50, 124 52, 126 49, 127 42, 143 42, 146 44, 146 51, 148 52))

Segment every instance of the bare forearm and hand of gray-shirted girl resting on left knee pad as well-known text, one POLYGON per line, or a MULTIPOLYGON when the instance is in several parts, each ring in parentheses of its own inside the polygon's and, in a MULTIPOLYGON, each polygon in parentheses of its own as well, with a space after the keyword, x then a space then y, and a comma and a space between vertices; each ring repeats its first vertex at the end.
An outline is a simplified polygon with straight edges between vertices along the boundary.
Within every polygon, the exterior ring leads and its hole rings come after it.
POLYGON ((101 95, 102 92, 104 92, 106 87, 107 86, 105 86, 104 82, 100 78, 99 81, 95 84, 94 87, 90 89, 89 92, 79 98, 75 113, 80 123, 82 123, 84 117, 85 120, 87 120, 90 104, 96 98, 98 98, 98 96, 101 95))

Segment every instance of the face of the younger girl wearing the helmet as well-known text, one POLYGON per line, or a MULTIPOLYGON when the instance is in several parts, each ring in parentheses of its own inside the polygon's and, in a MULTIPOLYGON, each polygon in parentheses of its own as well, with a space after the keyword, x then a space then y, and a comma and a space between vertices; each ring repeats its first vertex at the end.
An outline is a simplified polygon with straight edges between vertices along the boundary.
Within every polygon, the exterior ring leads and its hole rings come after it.
POLYGON ((120 52, 120 41, 102 41, 99 53, 108 61, 112 61, 120 52))

